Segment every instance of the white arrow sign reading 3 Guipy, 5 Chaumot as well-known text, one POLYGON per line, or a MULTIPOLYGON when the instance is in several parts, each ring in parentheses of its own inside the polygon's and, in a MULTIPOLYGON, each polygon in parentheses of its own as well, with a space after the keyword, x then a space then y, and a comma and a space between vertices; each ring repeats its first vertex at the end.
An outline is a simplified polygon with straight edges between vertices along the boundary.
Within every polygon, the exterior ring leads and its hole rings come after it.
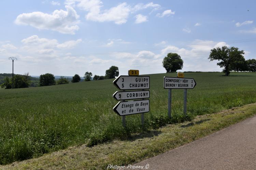
POLYGON ((113 81, 113 84, 120 90, 149 89, 150 77, 120 75, 113 81))

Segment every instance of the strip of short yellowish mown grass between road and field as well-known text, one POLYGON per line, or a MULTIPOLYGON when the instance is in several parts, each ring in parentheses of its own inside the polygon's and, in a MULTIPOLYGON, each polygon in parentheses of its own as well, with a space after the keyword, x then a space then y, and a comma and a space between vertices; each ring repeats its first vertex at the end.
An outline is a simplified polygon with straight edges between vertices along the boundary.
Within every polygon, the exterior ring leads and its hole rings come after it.
POLYGON ((248 104, 197 116, 192 121, 169 124, 158 130, 133 134, 128 140, 114 140, 94 147, 70 147, 39 158, 0 166, 0 169, 105 169, 109 164, 133 164, 212 134, 255 114, 256 103, 248 104))

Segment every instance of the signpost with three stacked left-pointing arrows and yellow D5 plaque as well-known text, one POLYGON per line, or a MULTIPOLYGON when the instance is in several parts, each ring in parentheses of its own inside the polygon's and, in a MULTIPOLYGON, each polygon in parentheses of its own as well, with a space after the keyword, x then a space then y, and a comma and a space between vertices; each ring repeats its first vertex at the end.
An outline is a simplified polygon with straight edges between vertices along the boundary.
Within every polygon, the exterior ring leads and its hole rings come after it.
POLYGON ((113 94, 113 98, 119 101, 114 107, 113 111, 119 116, 122 116, 123 126, 126 126, 125 116, 133 114, 141 114, 141 123, 144 126, 144 113, 150 111, 150 77, 138 76, 139 70, 129 70, 129 75, 120 75, 113 84, 120 90, 113 94), (139 91, 141 89, 141 91, 139 91), (133 90, 133 91, 126 91, 133 90), (136 90, 136 91, 134 91, 136 90), (138 91, 137 91, 138 90, 138 91), (126 101, 131 99, 141 99, 134 101, 126 101))

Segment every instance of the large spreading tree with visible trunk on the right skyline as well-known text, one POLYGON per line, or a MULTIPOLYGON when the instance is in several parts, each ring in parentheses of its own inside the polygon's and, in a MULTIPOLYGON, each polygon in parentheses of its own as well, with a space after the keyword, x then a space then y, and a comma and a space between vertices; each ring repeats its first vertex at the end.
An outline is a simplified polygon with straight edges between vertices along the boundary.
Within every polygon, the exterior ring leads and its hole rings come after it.
POLYGON ((224 67, 223 72, 225 72, 225 76, 228 76, 232 70, 231 65, 236 61, 241 61, 241 58, 243 58, 242 54, 244 54, 244 51, 239 51, 239 48, 228 48, 227 46, 223 46, 222 48, 217 47, 211 49, 211 53, 208 59, 210 59, 210 61, 221 61, 217 63, 217 65, 221 68, 224 67))

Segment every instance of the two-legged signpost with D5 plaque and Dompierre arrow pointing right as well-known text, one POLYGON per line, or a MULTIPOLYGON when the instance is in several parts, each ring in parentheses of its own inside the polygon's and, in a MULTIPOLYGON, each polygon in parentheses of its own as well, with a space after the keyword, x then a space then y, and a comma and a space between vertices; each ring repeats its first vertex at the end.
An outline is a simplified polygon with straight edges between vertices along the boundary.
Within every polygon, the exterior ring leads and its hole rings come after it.
POLYGON ((187 112, 187 89, 193 89, 196 86, 196 81, 192 78, 182 78, 183 73, 178 73, 177 77, 164 77, 163 88, 169 89, 168 91, 168 117, 171 118, 172 108, 172 91, 171 89, 184 89, 184 103, 183 112, 187 112), (177 78, 178 77, 178 78, 177 78))

